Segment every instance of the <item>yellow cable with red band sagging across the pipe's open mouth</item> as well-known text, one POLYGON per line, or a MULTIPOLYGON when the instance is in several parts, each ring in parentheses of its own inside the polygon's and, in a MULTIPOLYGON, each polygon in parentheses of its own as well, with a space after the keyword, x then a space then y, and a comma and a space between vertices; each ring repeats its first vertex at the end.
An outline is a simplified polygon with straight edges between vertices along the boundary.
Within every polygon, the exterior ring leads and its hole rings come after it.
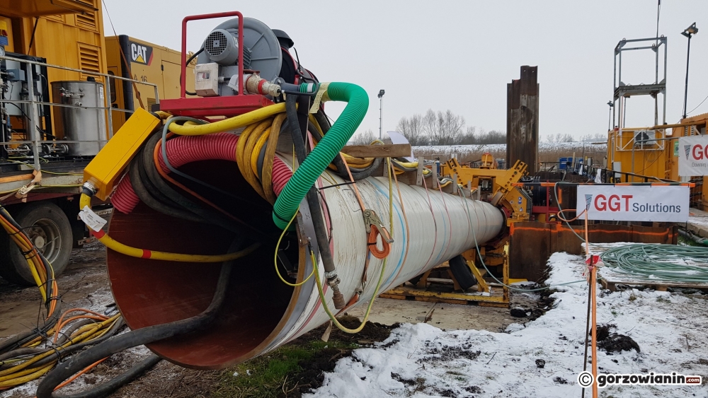
MULTIPOLYGON (((81 194, 81 199, 79 199, 80 209, 84 209, 84 206, 89 206, 91 209, 91 197, 86 194, 81 194)), ((153 250, 139 249, 137 247, 131 247, 124 245, 113 238, 110 238, 107 233, 95 233, 94 236, 99 242, 103 243, 105 247, 110 250, 115 250, 121 254, 125 254, 130 257, 137 258, 149 258, 164 261, 175 261, 175 262, 227 262, 234 259, 239 259, 248 254, 251 254, 254 250, 261 246, 261 243, 253 243, 253 245, 246 247, 244 250, 239 250, 238 252, 227 253, 227 254, 181 254, 181 253, 169 253, 169 252, 157 252, 153 250)))

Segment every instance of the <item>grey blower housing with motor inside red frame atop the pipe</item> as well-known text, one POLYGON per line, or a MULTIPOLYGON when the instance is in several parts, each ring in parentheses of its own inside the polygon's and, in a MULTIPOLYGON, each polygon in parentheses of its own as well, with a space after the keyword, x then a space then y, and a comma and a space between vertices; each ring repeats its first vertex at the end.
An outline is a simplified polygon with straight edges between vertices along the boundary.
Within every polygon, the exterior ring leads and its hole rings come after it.
MULTIPOLYGON (((261 78, 273 81, 280 74, 282 54, 278 37, 268 25, 253 18, 244 17, 244 70, 258 71, 261 78)), ((207 35, 202 44, 204 51, 197 57, 197 65, 218 65, 217 95, 235 95, 229 81, 239 73, 239 20, 231 19, 218 25, 207 35)), ((198 67, 199 70, 199 67, 198 67)), ((214 95, 214 94, 212 94, 214 95)))

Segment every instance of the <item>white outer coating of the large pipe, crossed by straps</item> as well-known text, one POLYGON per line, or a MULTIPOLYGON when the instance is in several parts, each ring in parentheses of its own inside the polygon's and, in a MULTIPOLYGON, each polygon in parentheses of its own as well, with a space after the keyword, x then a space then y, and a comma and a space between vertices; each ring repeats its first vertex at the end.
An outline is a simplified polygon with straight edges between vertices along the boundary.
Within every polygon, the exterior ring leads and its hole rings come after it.
MULTIPOLYGON (((290 160, 280 156, 286 164, 290 160)), ((429 180, 429 179, 428 179, 429 180)), ((331 251, 338 276, 339 288, 346 302, 361 286, 362 271, 367 255, 367 233, 352 185, 327 170, 316 186, 324 195, 324 217, 331 226, 331 251)), ((432 182, 428 181, 428 185, 432 182)), ((357 187, 367 209, 374 210, 386 228, 389 228, 389 182, 387 177, 369 177, 357 182, 357 187)), ((504 226, 501 210, 483 201, 464 199, 424 187, 399 183, 401 200, 394 182, 393 226, 389 232, 394 238, 387 259, 382 286, 378 293, 408 281, 452 257, 475 247, 475 238, 481 245, 495 238, 504 226), (405 209, 405 211, 404 211, 405 209)), ((303 202, 305 203, 305 202, 303 202)), ((302 211, 301 206, 301 211, 302 211)), ((302 237, 301 237, 302 238, 302 237)), ((307 239, 307 238, 306 238, 307 239)), ((379 238, 380 242, 380 238, 379 238)), ((380 247, 380 245, 379 245, 380 247)), ((308 256, 309 257, 309 256, 308 256)), ((300 262, 302 264, 302 260, 300 262)), ((383 260, 373 256, 367 271, 367 284, 356 305, 367 303, 375 294, 383 260)), ((320 276, 324 266, 319 261, 320 276)), ((300 273, 298 282, 312 271, 309 260, 300 273)), ((335 312, 331 289, 324 286, 330 310, 335 312)), ((376 310, 374 305, 373 310, 376 310)), ((258 355, 295 339, 329 320, 320 303, 313 279, 295 289, 285 316, 273 333, 267 346, 259 346, 258 355)), ((255 356, 254 355, 254 356, 255 356)))

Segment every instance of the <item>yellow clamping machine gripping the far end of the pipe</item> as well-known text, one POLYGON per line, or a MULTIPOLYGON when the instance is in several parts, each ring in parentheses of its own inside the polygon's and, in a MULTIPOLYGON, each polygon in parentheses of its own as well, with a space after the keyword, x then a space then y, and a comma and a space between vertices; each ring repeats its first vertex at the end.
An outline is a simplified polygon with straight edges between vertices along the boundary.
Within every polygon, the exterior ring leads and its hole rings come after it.
MULTIPOLYGON (((481 168, 459 165, 457 159, 452 158, 447 160, 443 170, 449 173, 453 182, 457 182, 457 189, 453 192, 469 194, 470 197, 489 201, 503 209, 507 226, 517 221, 530 221, 531 198, 527 192, 515 186, 515 183, 526 174, 525 163, 517 161, 513 168, 497 170, 491 155, 485 154, 482 157, 481 168)), ((410 283, 414 285, 413 287, 401 285, 383 293, 381 297, 508 307, 507 286, 510 283, 508 234, 505 233, 497 240, 479 246, 479 252, 477 250, 477 248, 468 250, 460 257, 451 259, 450 262, 431 269, 418 278, 411 279, 410 283), (484 259, 484 264, 479 259, 484 259), (462 270, 459 264, 453 264, 454 262, 464 262, 471 275, 462 270), (498 280, 501 283, 490 283, 485 280, 487 270, 491 267, 495 267, 497 273, 501 274, 501 280, 498 280), (450 281, 454 287, 452 292, 449 289, 441 290, 430 285, 430 283, 440 282, 449 284, 450 281), (465 293, 472 286, 476 286, 476 293, 465 293)))

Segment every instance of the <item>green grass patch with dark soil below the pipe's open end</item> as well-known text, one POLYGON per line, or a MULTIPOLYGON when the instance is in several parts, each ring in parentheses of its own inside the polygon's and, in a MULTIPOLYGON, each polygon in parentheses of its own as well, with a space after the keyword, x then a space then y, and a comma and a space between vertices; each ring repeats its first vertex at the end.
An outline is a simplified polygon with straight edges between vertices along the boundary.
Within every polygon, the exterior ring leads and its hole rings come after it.
POLYGON ((295 387, 292 376, 302 371, 299 365, 316 356, 318 351, 329 349, 355 349, 356 344, 341 341, 307 341, 304 344, 289 344, 265 356, 253 358, 240 365, 224 370, 215 398, 275 398, 295 387), (234 376, 234 373, 238 375, 234 376), (287 380, 286 380, 286 377, 287 380))

